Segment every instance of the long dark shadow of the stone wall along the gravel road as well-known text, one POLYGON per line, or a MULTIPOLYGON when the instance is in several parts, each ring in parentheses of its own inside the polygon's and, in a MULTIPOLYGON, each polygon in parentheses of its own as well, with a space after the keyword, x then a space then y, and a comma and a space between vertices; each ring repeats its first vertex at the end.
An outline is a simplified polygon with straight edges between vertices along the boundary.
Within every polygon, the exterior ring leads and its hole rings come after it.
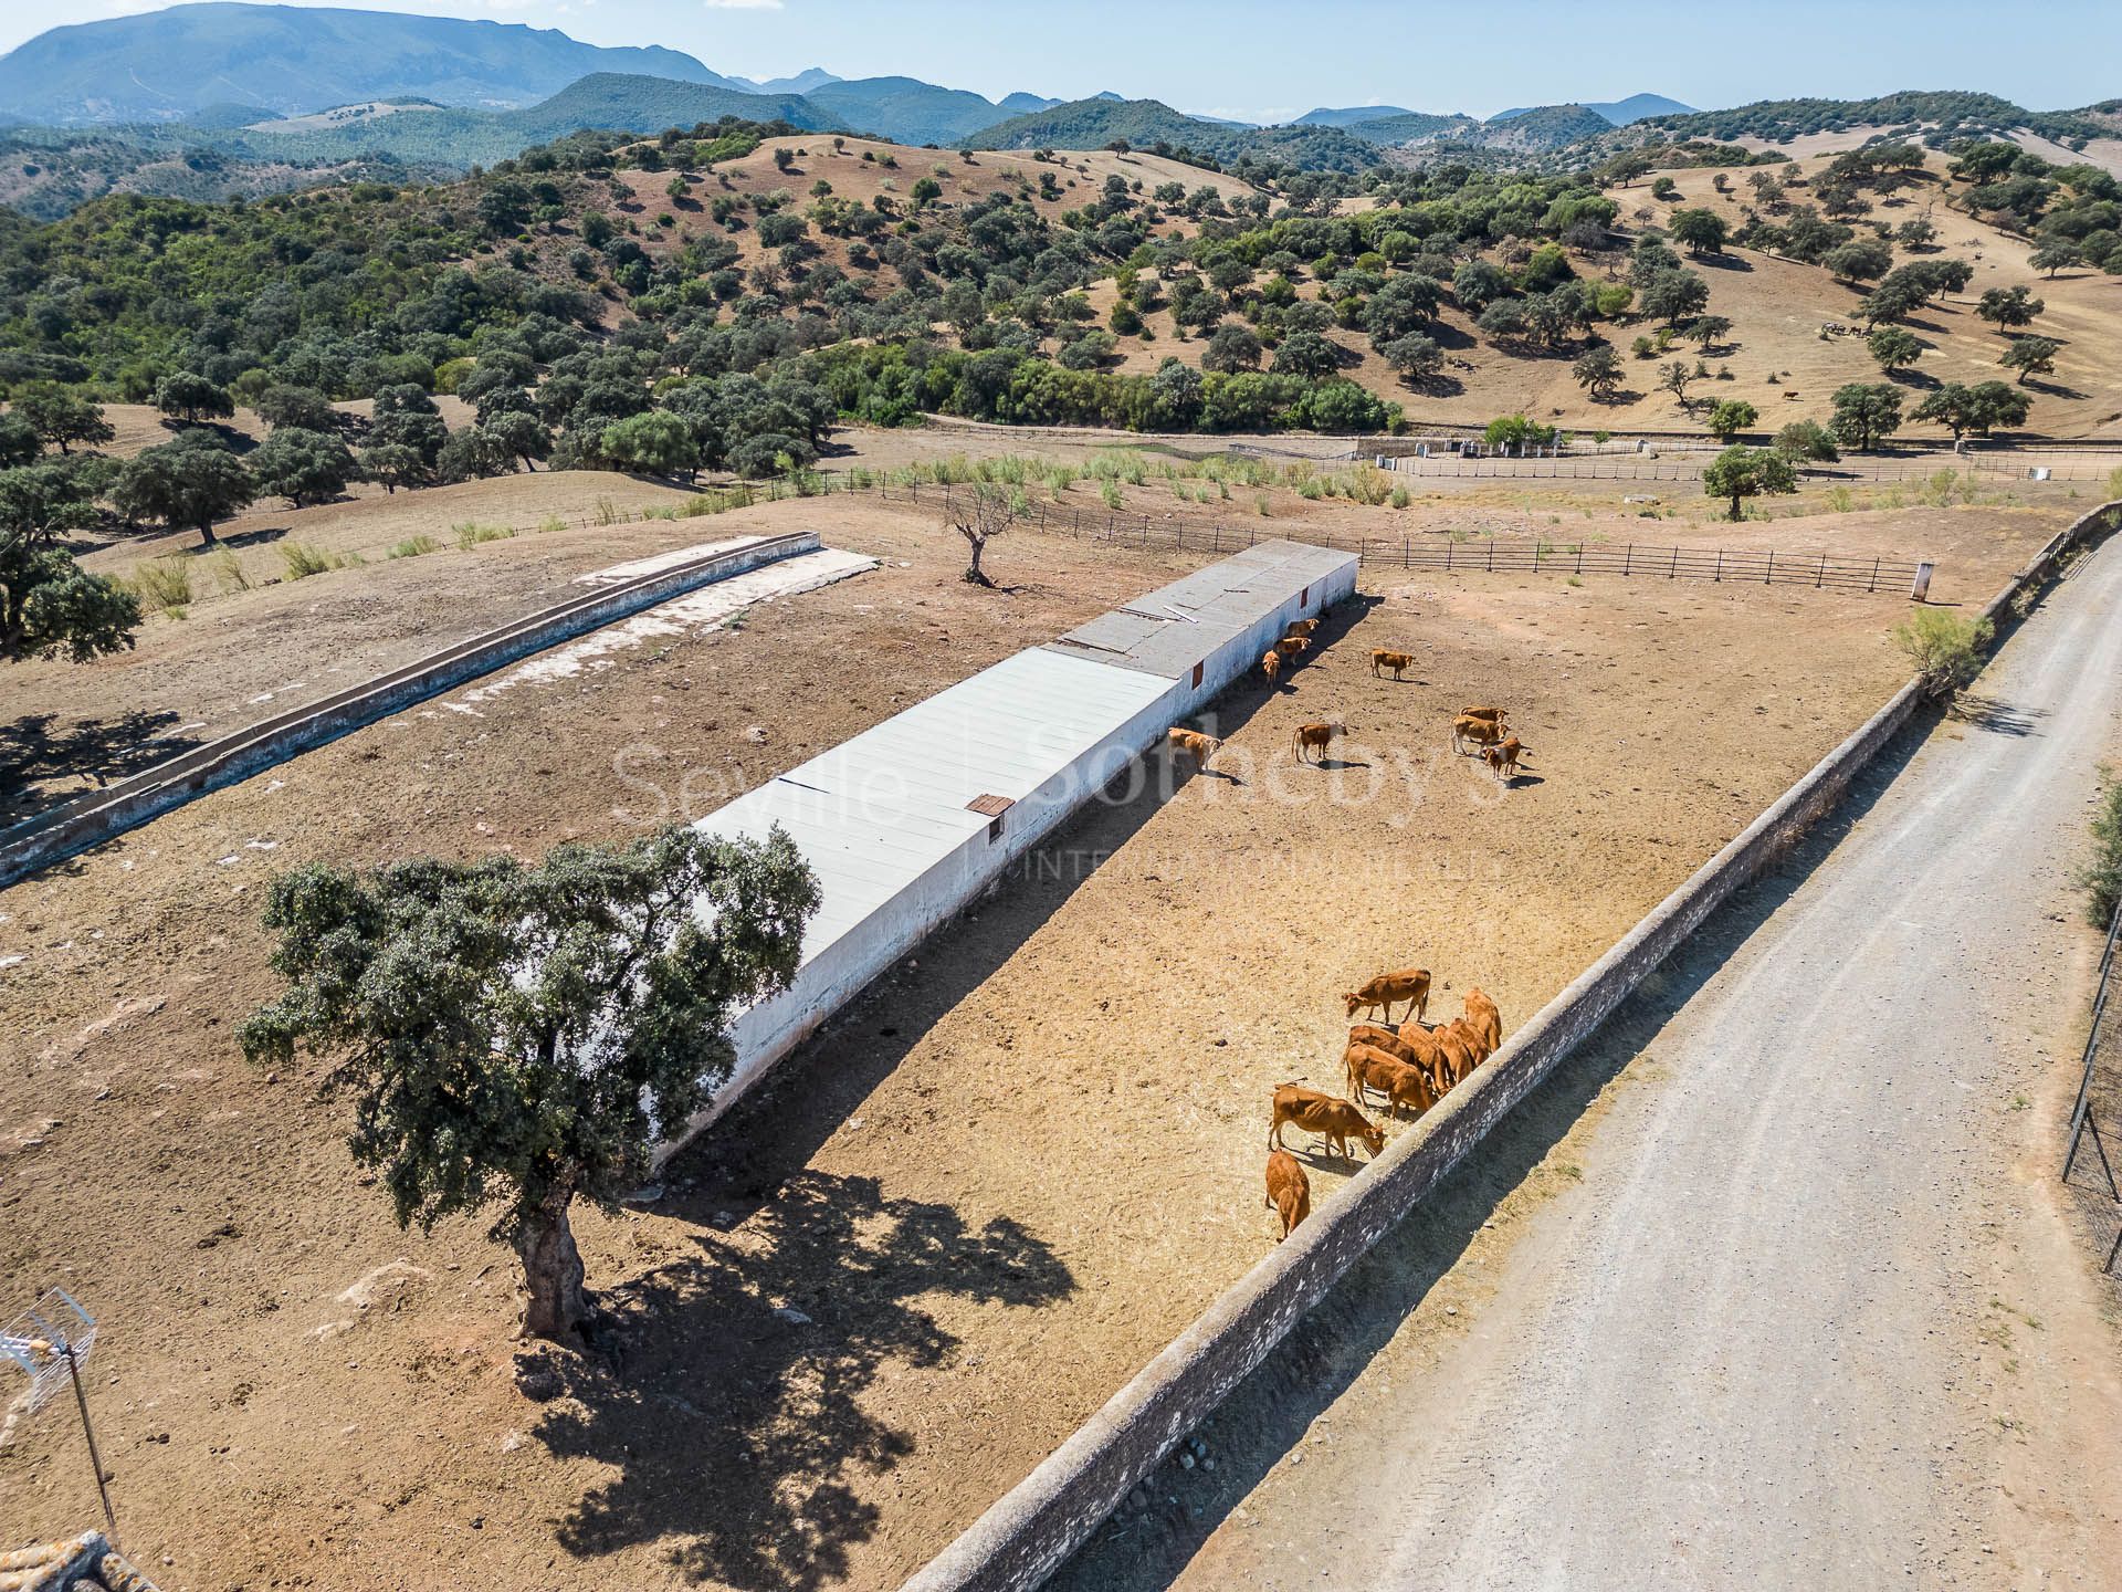
MULTIPOLYGON (((1925 741, 1931 720, 1897 737, 1859 773, 1844 804, 1821 819, 1780 864, 1738 892, 1664 968, 1613 1013, 1575 1055, 1519 1102, 1479 1148, 1422 1201, 1415 1221, 1386 1233, 1290 1335, 1224 1399, 1199 1435, 1216 1471, 1167 1458, 1146 1484, 1152 1503, 1108 1520, 1046 1584, 1048 1592, 1163 1592, 1254 1488, 1284 1465, 1364 1373, 1504 1199, 1536 1178, 1600 1091, 1782 906, 1806 875, 1878 802, 1925 741)), ((1415 1439, 1411 1439, 1415 1441, 1415 1439)))

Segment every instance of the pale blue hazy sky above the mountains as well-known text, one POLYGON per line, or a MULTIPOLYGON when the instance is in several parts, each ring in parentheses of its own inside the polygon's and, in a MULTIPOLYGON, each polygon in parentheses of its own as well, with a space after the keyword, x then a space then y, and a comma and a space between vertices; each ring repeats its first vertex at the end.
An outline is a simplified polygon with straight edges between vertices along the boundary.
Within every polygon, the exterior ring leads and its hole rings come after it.
MULTIPOLYGON (((308 0, 297 0, 306 4, 308 0)), ((149 0, 6 0, 0 49, 149 0)), ((999 98, 1114 89, 1271 121, 1311 106, 1492 115, 1670 93, 1695 106, 1986 89, 2037 110, 2122 96, 2122 0, 380 0, 380 11, 668 45, 717 72, 906 74, 999 98)))

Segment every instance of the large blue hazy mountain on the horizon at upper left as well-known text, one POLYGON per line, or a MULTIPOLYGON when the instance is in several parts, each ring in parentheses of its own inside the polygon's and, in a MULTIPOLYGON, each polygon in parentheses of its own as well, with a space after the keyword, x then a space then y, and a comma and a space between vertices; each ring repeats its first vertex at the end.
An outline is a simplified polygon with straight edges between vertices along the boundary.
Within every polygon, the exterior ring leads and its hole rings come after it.
POLYGON ((53 28, 0 55, 0 106, 38 123, 189 121, 422 96, 528 106, 592 72, 736 83, 673 49, 598 49, 522 23, 325 6, 191 4, 53 28))

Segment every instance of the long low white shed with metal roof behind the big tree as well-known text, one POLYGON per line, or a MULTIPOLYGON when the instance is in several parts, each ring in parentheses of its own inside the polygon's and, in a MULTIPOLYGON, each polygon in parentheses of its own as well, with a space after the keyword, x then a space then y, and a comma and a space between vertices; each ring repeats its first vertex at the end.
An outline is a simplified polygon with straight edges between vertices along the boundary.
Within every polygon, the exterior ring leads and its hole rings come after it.
POLYGON ((1354 554, 1263 541, 1004 658, 700 819, 705 834, 732 838, 779 824, 823 900, 796 979, 732 1023, 728 1085, 664 1153, 1258 664, 1290 620, 1354 590, 1354 554))

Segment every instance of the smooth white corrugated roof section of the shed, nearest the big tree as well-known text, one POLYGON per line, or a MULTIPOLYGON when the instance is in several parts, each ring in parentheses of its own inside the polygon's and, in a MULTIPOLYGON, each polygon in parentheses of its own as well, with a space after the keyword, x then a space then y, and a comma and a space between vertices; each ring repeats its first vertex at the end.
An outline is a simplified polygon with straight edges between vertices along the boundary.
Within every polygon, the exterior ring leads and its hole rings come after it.
POLYGON ((1165 681, 1031 647, 864 730, 700 819, 764 838, 781 824, 823 902, 804 936, 817 955, 989 819, 980 796, 1023 800, 1154 703, 1165 681))

